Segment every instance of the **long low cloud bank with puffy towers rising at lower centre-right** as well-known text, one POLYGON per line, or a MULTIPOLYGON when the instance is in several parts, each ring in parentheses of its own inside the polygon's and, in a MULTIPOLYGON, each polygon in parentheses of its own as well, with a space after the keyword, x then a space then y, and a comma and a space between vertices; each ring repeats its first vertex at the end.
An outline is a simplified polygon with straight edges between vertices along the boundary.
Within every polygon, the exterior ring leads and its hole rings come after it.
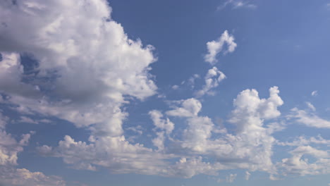
POLYGON ((231 123, 235 134, 217 133, 212 119, 201 116, 202 103, 194 98, 173 101, 166 116, 185 123, 180 136, 171 132, 174 125, 160 111, 150 111, 156 137, 155 148, 130 144, 124 136, 90 136, 89 142, 77 142, 66 136, 57 147, 44 145, 39 153, 61 157, 72 168, 96 171, 108 168, 112 173, 142 173, 147 175, 180 176, 190 178, 200 173, 216 175, 218 171, 244 168, 250 171, 276 173, 271 161, 274 130, 264 120, 280 116, 283 104, 277 87, 272 87, 268 99, 259 99, 257 91, 247 89, 234 101, 231 123), (247 102, 246 102, 247 101, 247 102), (243 118, 238 120, 238 118, 243 118), (204 159, 214 157, 214 162, 204 159), (179 159, 179 161, 177 161, 179 159))

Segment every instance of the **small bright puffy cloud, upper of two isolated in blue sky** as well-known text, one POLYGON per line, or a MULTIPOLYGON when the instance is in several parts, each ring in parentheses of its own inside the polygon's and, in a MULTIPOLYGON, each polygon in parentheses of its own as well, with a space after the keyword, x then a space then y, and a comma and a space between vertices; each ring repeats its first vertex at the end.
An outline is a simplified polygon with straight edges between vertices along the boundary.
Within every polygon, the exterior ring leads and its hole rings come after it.
POLYGON ((208 63, 214 64, 218 62, 216 56, 222 51, 223 54, 231 53, 236 49, 236 42, 233 35, 229 35, 228 31, 225 30, 224 33, 219 37, 219 39, 213 40, 212 42, 207 42, 208 54, 204 56, 204 60, 208 63), (228 49, 224 49, 224 45, 227 45, 228 49))

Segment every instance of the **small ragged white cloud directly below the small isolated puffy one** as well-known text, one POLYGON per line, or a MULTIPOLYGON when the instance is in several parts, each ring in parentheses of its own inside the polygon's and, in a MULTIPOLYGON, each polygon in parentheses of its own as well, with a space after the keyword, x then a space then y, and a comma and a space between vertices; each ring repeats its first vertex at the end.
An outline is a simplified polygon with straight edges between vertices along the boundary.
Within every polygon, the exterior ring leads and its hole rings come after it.
POLYGON ((207 75, 205 75, 205 85, 202 87, 202 89, 195 92, 195 95, 197 97, 202 97, 204 94, 214 94, 213 92, 210 92, 211 89, 218 87, 219 82, 224 80, 226 78, 226 75, 222 73, 218 68, 213 67, 208 70, 207 75))

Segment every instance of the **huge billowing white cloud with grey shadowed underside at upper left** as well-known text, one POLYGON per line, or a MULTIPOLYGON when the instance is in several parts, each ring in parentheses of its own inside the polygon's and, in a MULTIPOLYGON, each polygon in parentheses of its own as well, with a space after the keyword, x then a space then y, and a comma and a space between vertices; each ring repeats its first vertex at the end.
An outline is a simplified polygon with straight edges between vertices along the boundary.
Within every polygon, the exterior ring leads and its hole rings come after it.
POLYGON ((148 73, 156 61, 153 47, 128 39, 104 0, 17 4, 0 3, 6 25, 0 27, 0 51, 11 51, 1 52, 0 64, 0 92, 11 96, 7 101, 19 111, 89 126, 94 135, 121 135, 124 97, 142 100, 156 93, 148 73), (19 53, 39 63, 28 82, 19 53))

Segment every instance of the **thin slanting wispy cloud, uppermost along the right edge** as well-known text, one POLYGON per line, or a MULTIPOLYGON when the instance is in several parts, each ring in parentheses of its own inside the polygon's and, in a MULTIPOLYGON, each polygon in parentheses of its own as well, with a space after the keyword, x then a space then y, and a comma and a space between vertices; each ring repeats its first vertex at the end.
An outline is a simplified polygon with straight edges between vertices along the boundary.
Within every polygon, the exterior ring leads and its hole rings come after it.
POLYGON ((311 128, 330 128, 330 121, 319 118, 315 113, 307 113, 298 108, 291 109, 292 113, 287 117, 294 119, 295 122, 311 128))

